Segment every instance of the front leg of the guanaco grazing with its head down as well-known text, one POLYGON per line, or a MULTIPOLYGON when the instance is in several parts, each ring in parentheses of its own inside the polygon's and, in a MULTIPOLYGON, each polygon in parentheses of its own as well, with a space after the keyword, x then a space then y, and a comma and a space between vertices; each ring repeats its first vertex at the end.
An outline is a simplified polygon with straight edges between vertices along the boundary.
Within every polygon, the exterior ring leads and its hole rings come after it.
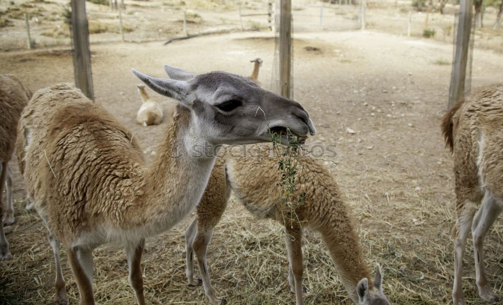
MULTIPOLYGON (((289 269, 291 269, 291 274, 293 275, 293 290, 295 291, 296 304, 302 305, 304 303, 302 296, 302 274, 304 272, 302 266, 302 230, 298 227, 291 228, 290 225, 287 225, 286 233, 285 241, 290 263, 289 269)), ((291 287, 290 278, 289 282, 291 287)))

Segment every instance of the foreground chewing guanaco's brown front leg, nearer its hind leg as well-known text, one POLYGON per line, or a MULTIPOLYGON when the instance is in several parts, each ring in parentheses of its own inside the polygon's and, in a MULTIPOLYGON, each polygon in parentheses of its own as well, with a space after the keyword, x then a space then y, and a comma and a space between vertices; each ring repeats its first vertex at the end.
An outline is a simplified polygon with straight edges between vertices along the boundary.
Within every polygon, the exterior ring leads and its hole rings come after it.
POLYGON ((80 305, 95 305, 93 292, 93 255, 92 251, 79 248, 66 249, 75 282, 80 294, 80 305))

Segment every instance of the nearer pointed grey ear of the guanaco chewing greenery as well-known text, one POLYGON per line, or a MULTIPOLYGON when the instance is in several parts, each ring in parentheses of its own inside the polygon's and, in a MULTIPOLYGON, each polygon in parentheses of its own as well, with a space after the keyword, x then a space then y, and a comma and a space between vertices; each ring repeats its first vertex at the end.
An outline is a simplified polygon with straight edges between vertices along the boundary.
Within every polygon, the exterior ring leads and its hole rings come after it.
POLYGON ((167 97, 175 98, 181 101, 185 106, 190 106, 192 104, 193 99, 190 98, 190 86, 188 82, 169 78, 152 77, 138 72, 135 69, 131 69, 131 71, 155 92, 167 97))

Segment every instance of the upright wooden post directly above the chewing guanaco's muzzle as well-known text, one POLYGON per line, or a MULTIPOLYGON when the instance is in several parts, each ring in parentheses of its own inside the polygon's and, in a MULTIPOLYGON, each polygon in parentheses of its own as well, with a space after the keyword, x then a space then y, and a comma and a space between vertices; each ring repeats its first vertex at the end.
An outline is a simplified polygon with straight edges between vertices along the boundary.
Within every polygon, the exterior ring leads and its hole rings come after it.
POLYGON ((281 95, 290 98, 292 51, 292 2, 281 0, 280 11, 280 87, 281 95))

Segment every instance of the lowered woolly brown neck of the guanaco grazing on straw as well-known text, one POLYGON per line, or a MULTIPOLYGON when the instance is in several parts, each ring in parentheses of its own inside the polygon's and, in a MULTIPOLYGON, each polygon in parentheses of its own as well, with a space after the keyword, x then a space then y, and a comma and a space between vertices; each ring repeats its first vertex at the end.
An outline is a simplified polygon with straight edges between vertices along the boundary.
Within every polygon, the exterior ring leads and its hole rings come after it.
POLYGON ((372 285, 367 262, 347 211, 337 211, 328 215, 333 219, 326 220, 318 229, 344 287, 356 303, 358 282, 366 277, 369 280, 369 286, 372 285))

